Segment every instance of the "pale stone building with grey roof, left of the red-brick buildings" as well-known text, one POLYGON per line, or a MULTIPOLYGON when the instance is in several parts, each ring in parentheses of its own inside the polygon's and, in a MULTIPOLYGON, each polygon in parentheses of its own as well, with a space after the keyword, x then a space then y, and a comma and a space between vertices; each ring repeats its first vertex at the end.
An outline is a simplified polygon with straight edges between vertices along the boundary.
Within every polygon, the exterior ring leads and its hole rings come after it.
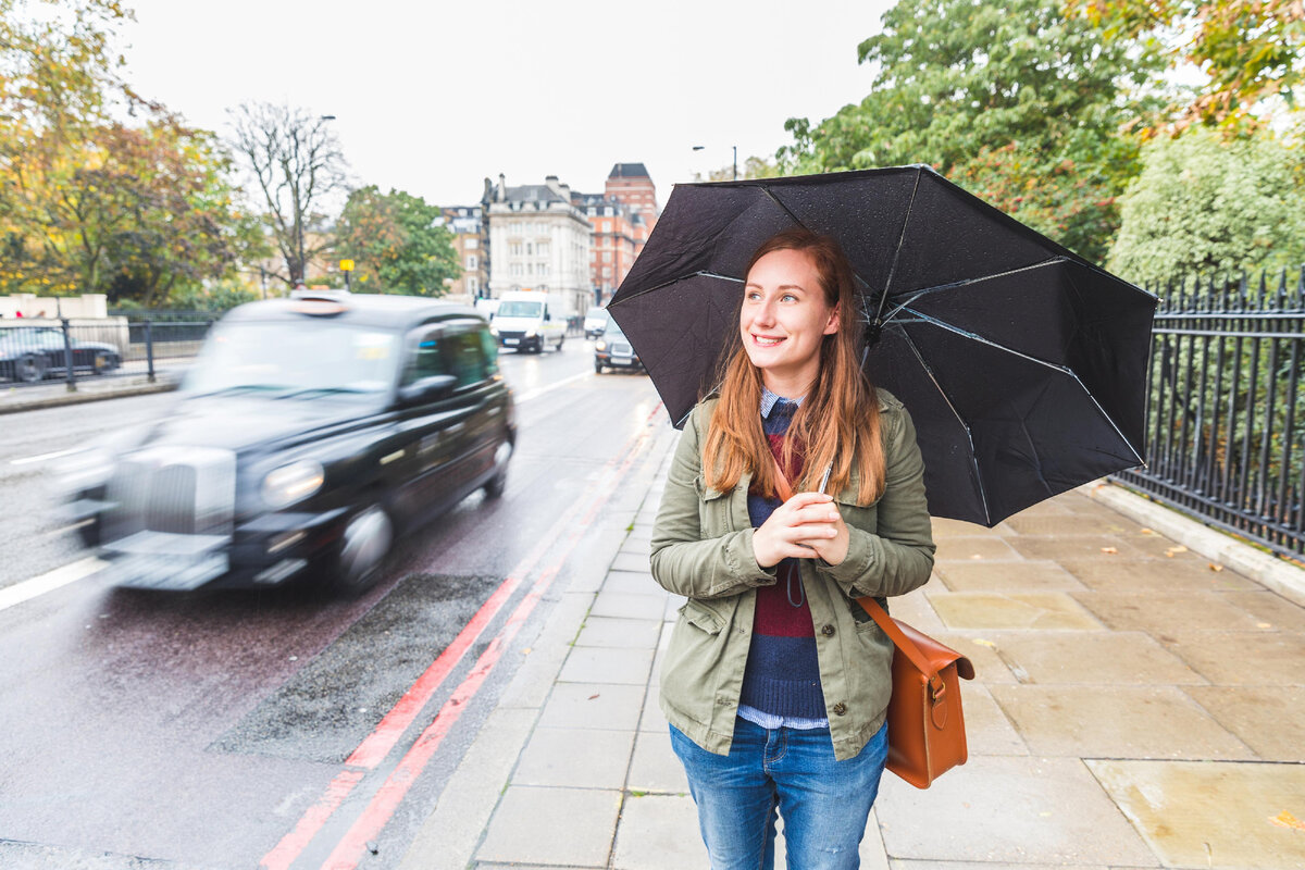
POLYGON ((589 218, 572 202, 570 187, 549 175, 543 184, 508 187, 485 179, 482 201, 488 222, 489 296, 510 290, 547 290, 568 296, 570 313, 583 314, 590 288, 589 218))

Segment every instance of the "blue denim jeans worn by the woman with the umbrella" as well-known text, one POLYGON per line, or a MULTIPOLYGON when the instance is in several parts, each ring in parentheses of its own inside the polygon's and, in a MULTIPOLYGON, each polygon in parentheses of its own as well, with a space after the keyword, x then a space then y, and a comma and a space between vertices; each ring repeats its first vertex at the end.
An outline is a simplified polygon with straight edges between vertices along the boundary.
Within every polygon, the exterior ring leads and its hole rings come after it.
POLYGON ((771 730, 735 719, 729 754, 715 755, 671 725, 711 870, 773 870, 776 810, 790 870, 859 867, 887 734, 885 725, 856 758, 839 762, 829 728, 771 730))

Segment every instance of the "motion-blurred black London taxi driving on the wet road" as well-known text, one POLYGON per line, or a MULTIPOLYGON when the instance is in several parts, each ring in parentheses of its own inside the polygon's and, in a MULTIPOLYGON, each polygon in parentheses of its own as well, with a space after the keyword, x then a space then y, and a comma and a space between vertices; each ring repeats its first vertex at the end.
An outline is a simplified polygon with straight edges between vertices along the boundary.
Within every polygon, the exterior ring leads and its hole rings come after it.
POLYGON ((309 292, 227 313, 175 413, 70 459, 64 488, 112 584, 359 592, 398 535, 501 496, 515 437, 472 308, 309 292))

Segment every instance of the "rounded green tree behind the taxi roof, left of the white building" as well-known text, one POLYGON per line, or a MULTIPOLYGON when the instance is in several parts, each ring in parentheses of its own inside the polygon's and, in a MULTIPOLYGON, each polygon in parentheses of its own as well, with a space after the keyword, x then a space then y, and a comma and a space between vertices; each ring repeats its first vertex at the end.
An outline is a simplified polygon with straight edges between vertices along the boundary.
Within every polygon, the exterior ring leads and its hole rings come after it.
POLYGON ((437 226, 442 217, 403 190, 354 190, 337 226, 337 252, 355 262, 354 290, 442 296, 445 280, 462 274, 453 233, 437 226))

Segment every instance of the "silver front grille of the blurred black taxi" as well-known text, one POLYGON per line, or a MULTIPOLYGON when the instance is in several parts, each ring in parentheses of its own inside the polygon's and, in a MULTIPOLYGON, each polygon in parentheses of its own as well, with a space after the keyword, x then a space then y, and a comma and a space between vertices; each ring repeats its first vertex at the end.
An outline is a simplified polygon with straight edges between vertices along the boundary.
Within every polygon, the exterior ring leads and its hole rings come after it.
POLYGON ((235 472, 231 450, 159 447, 124 457, 106 492, 106 539, 141 531, 231 535, 235 472))

